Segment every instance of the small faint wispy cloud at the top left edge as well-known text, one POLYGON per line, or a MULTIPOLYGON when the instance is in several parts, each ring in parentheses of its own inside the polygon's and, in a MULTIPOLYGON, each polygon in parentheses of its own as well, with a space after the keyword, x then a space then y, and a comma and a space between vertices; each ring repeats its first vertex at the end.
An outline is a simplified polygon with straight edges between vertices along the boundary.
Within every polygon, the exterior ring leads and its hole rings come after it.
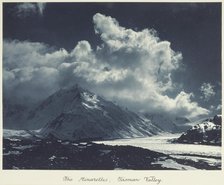
POLYGON ((43 15, 46 3, 19 3, 16 6, 18 17, 27 17, 32 14, 43 15))

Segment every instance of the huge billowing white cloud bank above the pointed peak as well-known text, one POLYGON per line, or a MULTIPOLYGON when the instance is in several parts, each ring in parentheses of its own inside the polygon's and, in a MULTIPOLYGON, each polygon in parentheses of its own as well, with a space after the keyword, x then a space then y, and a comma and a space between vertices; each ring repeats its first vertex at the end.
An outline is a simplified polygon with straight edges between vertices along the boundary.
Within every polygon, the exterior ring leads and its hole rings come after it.
POLYGON ((126 29, 99 13, 93 23, 102 39, 96 50, 88 41, 80 41, 71 52, 43 43, 4 41, 5 96, 18 103, 27 97, 37 101, 60 87, 80 83, 138 111, 187 117, 209 113, 192 102, 192 93, 180 90, 174 98, 168 96, 176 88, 172 73, 179 69, 182 55, 171 49, 170 42, 161 41, 155 30, 126 29))

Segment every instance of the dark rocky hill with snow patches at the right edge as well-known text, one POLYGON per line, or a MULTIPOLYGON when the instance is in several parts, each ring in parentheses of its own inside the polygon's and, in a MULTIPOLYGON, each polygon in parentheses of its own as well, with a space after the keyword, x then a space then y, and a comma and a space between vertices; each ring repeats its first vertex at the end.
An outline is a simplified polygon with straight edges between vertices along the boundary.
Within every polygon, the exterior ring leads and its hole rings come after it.
POLYGON ((221 145, 222 116, 216 115, 194 125, 182 134, 177 142, 207 145, 221 145))

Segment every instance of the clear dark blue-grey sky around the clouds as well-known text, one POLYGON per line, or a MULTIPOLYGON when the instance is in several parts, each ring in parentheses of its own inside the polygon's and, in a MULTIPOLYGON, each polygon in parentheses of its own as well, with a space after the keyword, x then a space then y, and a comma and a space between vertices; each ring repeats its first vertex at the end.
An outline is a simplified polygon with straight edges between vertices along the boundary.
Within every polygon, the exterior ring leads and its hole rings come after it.
POLYGON ((4 40, 41 42, 68 52, 86 40, 95 50, 102 43, 94 31, 96 13, 115 18, 126 29, 153 28, 183 56, 179 70, 172 72, 178 88, 167 95, 192 92, 192 101, 209 110, 213 106, 214 112, 221 103, 221 3, 47 3, 43 12, 20 5, 3 4, 4 40), (207 100, 200 90, 203 83, 213 89, 207 100))

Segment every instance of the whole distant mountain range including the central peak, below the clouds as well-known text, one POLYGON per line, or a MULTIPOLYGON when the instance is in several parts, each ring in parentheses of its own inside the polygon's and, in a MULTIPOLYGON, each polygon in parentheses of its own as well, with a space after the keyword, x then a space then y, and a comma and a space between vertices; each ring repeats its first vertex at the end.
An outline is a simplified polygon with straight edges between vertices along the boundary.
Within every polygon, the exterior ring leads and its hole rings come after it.
POLYGON ((145 137, 181 132, 186 118, 134 113, 75 85, 60 89, 34 108, 4 102, 4 128, 41 129, 41 134, 77 140, 83 138, 145 137))

